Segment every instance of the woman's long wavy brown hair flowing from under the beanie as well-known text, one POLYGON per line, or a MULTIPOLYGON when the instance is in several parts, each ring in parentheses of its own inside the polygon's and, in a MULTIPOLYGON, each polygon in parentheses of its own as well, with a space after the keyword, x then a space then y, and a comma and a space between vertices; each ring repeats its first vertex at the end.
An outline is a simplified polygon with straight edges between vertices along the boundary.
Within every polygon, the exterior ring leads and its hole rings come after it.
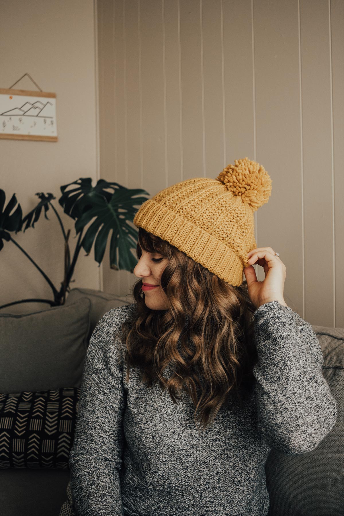
POLYGON ((142 249, 168 259, 160 277, 168 309, 148 308, 142 280, 134 284, 137 314, 122 325, 126 381, 132 366, 141 370, 148 388, 157 381, 162 391, 167 388, 174 404, 182 399, 176 391, 184 390, 195 406, 196 428, 200 422, 204 431, 221 406, 233 401, 233 395, 242 405, 242 389, 250 388, 254 381, 255 307, 248 297, 247 282, 232 286, 166 240, 139 228, 138 259, 142 249), (179 338, 182 355, 177 349, 179 338), (169 379, 162 375, 167 365, 173 370, 169 379))

